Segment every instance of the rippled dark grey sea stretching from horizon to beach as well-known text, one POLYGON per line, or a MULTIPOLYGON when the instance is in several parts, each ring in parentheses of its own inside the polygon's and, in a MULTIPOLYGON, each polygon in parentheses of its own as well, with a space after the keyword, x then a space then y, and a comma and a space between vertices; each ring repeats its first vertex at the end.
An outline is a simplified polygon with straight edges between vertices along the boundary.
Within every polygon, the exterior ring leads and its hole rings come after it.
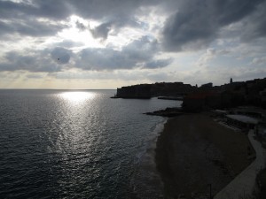
POLYGON ((153 147, 165 119, 142 113, 180 103, 114 93, 0 90, 0 198, 159 197, 153 147))

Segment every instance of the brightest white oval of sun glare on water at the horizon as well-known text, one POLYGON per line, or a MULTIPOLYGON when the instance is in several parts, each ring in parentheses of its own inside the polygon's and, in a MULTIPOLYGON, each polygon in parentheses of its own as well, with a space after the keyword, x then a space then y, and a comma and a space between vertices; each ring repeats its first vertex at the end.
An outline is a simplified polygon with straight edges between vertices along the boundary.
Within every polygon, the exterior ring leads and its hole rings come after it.
POLYGON ((64 92, 60 96, 70 103, 83 103, 89 99, 92 99, 95 94, 92 92, 72 91, 64 92))

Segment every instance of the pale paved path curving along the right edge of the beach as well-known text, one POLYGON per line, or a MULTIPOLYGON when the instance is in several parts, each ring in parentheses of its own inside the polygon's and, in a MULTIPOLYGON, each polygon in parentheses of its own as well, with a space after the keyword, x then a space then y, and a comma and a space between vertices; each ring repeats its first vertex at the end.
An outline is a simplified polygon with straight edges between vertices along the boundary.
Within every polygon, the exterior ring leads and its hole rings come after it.
POLYGON ((254 140, 254 130, 249 131, 248 139, 256 152, 254 162, 215 195, 215 199, 241 199, 253 194, 256 175, 266 165, 266 150, 260 142, 254 140))

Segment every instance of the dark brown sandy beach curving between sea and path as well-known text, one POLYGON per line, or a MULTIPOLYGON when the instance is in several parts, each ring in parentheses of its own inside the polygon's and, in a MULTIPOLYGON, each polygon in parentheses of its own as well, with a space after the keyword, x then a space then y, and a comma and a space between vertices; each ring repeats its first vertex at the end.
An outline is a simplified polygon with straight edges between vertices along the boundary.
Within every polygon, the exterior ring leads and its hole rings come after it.
POLYGON ((252 162, 246 134, 221 126, 205 113, 168 119, 157 141, 156 165, 165 198, 209 195, 224 188, 252 162))

